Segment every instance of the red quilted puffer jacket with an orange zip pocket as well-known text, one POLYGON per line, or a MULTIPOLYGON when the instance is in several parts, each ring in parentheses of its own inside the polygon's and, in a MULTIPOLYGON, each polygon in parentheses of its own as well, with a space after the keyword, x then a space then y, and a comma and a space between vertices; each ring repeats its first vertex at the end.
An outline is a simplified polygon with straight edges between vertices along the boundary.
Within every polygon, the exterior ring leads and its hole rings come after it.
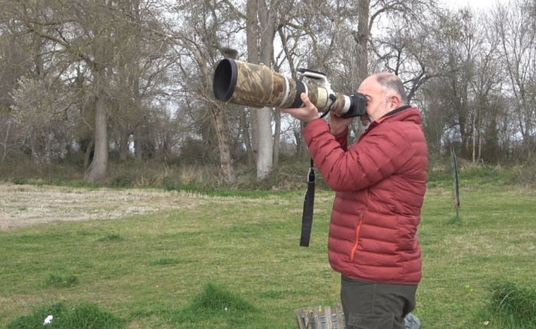
POLYGON ((418 108, 399 108, 370 124, 348 148, 348 130, 324 120, 303 130, 313 161, 336 192, 329 263, 348 278, 416 285, 417 237, 427 179, 427 144, 418 108))

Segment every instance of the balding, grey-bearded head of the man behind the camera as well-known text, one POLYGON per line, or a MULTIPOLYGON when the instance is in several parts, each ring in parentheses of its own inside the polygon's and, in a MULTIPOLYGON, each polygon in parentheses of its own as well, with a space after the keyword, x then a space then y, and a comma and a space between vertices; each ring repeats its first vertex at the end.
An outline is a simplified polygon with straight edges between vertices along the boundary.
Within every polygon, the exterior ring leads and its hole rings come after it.
POLYGON ((378 120, 395 108, 408 104, 408 97, 400 78, 393 73, 377 73, 367 77, 358 92, 367 97, 367 115, 378 120))

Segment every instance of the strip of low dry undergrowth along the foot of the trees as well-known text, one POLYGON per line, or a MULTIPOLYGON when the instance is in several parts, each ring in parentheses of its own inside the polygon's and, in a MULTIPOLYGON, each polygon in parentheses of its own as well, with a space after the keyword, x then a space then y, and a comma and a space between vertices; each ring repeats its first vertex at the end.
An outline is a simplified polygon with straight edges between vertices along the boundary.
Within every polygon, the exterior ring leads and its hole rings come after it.
MULTIPOLYGON (((157 187, 166 190, 189 190, 203 193, 219 191, 293 191, 307 187, 309 160, 281 156, 278 166, 272 168, 267 178, 258 180, 254 165, 237 165, 236 182, 228 182, 219 166, 202 164, 185 164, 182 161, 164 163, 155 159, 138 161, 110 161, 108 179, 98 185, 83 181, 83 168, 80 163, 63 161, 48 165, 35 165, 28 159, 20 162, 0 164, 0 178, 14 184, 49 184, 76 186, 109 187, 157 187)), ((315 168, 317 189, 327 190, 326 182, 315 168)), ((536 185, 536 159, 523 166, 503 168, 472 163, 458 159, 458 178, 463 182, 470 180, 473 184, 536 185)), ((431 157, 428 166, 428 186, 450 190, 452 188, 451 161, 449 157, 431 157)))

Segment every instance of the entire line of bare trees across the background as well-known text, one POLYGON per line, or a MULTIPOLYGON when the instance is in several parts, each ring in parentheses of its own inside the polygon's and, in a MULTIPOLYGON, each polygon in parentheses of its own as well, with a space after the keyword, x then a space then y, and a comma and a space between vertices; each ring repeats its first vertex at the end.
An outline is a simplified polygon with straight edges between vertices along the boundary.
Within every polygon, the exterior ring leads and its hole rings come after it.
MULTIPOLYGON (((236 166, 257 178, 306 156, 303 126, 273 108, 223 104, 226 57, 296 78, 327 73, 355 92, 399 75, 432 156, 523 162, 536 151, 536 2, 452 10, 432 0, 0 0, 0 161, 83 155, 104 180, 111 156, 236 166)), ((358 120, 356 120, 358 121, 358 120)), ((351 138, 362 132, 356 122, 351 138)))

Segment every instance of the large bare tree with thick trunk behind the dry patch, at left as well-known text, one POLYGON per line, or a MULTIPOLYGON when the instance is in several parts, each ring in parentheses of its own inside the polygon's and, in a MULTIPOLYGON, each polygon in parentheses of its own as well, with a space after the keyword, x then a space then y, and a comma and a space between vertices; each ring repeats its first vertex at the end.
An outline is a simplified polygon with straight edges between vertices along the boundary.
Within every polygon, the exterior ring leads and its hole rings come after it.
POLYGON ((116 16, 104 2, 79 4, 51 1, 48 6, 9 1, 8 11, 26 32, 51 42, 51 53, 83 61, 92 72, 95 101, 95 156, 86 173, 89 181, 106 178, 108 166, 108 118, 106 75, 110 72, 110 23, 116 16), (86 6, 83 6, 86 5, 86 6), (49 17, 52 15, 52 17, 49 17), (75 59, 76 58, 76 59, 75 59))

